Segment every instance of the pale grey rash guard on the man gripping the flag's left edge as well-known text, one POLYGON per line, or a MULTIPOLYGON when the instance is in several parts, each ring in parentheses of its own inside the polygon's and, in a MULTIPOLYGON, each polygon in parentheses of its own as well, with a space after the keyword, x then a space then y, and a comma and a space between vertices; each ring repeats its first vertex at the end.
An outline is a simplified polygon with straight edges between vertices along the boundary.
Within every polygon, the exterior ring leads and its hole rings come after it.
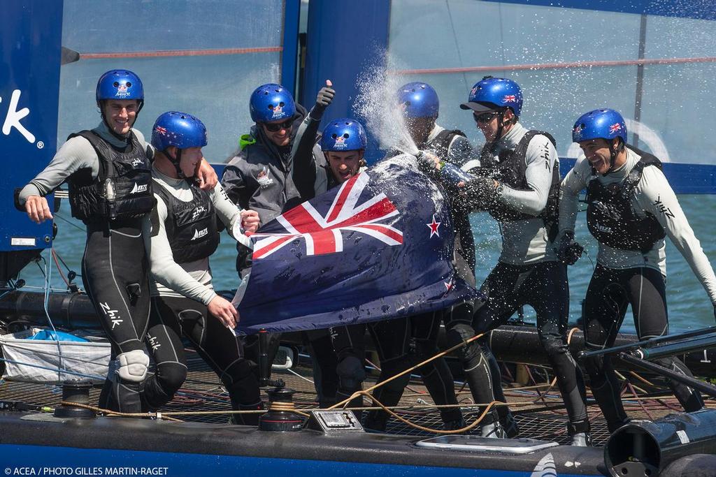
MULTIPOLYGON (((154 187, 164 187, 171 195, 184 202, 190 202, 193 199, 191 187, 185 180, 173 179, 162 174, 155 167, 152 169, 152 176, 156 180, 154 187)), ((152 296, 188 297, 208 305, 216 297, 216 292, 211 284, 209 259, 206 257, 182 264, 174 261, 164 224, 167 219, 167 206, 160 195, 155 193, 155 197, 157 207, 152 211, 151 219, 142 222, 142 236, 145 247, 147 247, 154 280, 151 285, 152 296)), ((248 239, 234 231, 236 222, 241 223, 241 210, 231 202, 223 187, 217 184, 209 192, 209 197, 216 207, 218 219, 226 225, 229 235, 248 246, 248 239)))

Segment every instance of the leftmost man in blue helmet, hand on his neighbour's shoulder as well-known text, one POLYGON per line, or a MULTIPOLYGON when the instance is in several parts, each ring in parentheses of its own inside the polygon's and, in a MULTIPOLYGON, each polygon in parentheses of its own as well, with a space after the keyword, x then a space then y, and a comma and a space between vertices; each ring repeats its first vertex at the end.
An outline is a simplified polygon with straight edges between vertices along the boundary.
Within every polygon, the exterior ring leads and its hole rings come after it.
MULTIPOLYGON (((139 77, 125 69, 102 74, 95 94, 102 121, 71 134, 52 162, 20 192, 34 222, 52 219, 45 195, 69 184, 72 216, 87 225, 82 257, 84 290, 112 343, 112 370, 100 406, 140 412, 140 385, 149 358, 143 343, 149 318, 147 256, 142 220, 155 205, 150 160, 153 149, 132 126, 144 105, 139 77)), ((203 187, 216 185, 201 161, 203 187)))

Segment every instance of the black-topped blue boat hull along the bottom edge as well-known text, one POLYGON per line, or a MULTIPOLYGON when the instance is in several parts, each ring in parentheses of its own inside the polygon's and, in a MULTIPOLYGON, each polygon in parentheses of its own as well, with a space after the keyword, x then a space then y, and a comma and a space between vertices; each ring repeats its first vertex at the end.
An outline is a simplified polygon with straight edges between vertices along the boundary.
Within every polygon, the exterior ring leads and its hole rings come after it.
POLYGON ((415 446, 419 438, 122 418, 0 413, 6 475, 599 476, 601 448, 525 455, 415 446), (8 471, 10 469, 10 471, 8 471), (536 473, 534 473, 536 472, 536 473), (251 474, 248 474, 251 475, 251 474))

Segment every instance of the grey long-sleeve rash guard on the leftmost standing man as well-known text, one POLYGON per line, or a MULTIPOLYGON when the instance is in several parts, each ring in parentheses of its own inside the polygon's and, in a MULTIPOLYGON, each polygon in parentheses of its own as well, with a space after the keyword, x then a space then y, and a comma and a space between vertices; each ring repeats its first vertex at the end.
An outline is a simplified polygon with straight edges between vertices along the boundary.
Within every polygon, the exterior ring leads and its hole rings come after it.
MULTIPOLYGON (((117 139, 110 134, 107 125, 104 122, 92 129, 92 131, 100 134, 102 139, 109 142, 115 147, 125 147, 126 141, 117 139)), ((144 139, 144 135, 132 129, 140 145, 147 150, 148 157, 154 157, 154 149, 147 144, 144 139)), ((67 180, 67 177, 77 172, 79 169, 92 169, 92 179, 97 179, 97 174, 100 173, 100 158, 97 157, 97 152, 92 144, 89 144, 87 139, 84 137, 77 136, 72 139, 68 139, 67 142, 62 144, 57 154, 54 154, 52 161, 47 164, 42 172, 37 174, 28 185, 22 188, 20 191, 19 202, 24 205, 27 198, 31 195, 39 195, 44 197, 45 195, 56 189, 62 182, 67 180)))

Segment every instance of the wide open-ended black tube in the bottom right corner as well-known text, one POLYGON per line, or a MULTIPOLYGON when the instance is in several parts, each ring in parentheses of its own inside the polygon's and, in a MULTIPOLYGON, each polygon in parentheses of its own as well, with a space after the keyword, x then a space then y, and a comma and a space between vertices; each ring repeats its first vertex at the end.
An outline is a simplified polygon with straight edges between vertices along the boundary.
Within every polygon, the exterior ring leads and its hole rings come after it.
POLYGON ((604 446, 604 463, 614 477, 657 476, 679 458, 713 453, 716 410, 703 409, 617 429, 604 446))

